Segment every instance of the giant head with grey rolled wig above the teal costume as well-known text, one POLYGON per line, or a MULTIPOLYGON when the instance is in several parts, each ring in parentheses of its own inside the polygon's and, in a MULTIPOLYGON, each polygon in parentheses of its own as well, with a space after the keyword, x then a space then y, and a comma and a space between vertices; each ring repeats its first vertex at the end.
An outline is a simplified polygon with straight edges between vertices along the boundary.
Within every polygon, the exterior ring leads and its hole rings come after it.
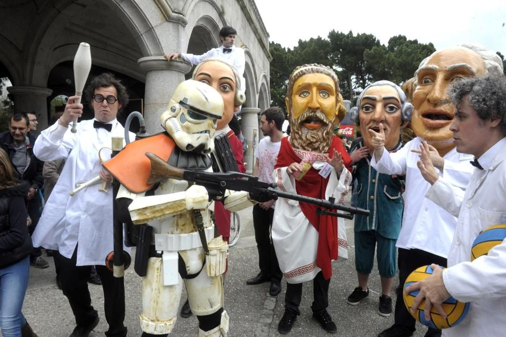
POLYGON ((406 102, 402 89, 390 81, 377 81, 360 94, 357 106, 350 110, 350 117, 359 124, 364 145, 372 149, 372 129, 379 132, 379 123, 385 130, 385 147, 393 149, 399 142, 401 128, 411 119, 413 106, 406 102))

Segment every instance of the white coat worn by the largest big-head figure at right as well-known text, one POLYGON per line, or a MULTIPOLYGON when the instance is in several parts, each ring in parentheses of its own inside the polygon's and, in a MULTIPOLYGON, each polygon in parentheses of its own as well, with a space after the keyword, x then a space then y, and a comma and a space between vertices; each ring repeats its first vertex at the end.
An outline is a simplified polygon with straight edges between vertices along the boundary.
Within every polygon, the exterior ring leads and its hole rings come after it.
MULTIPOLYGON (((395 153, 385 150, 377 162, 375 156, 372 156, 371 165, 379 173, 406 176, 406 190, 402 194, 404 213, 396 246, 421 249, 446 258, 457 219, 425 197, 431 185, 421 176, 416 166, 418 154, 411 152, 412 149, 419 150, 421 142, 423 139, 417 137, 395 153)), ((439 176, 452 185, 465 189, 474 168, 469 161, 474 157, 458 153, 453 148, 443 158, 443 172, 438 170, 439 176)))

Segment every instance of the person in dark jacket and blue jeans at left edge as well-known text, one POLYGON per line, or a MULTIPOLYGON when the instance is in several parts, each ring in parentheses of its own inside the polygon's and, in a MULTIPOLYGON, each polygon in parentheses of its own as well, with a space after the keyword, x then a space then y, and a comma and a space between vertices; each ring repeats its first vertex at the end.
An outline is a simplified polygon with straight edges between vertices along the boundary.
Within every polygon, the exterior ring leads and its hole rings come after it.
POLYGON ((28 184, 15 179, 7 153, 0 149, 0 327, 4 337, 36 336, 21 313, 32 243, 25 197, 28 184))

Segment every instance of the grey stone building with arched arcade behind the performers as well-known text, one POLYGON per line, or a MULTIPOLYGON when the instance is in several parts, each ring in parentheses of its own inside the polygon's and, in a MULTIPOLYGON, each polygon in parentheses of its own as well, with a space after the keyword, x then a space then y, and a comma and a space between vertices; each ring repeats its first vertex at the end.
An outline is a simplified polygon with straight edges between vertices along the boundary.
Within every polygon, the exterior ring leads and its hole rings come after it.
POLYGON ((103 71, 119 76, 132 99, 125 111, 142 111, 155 133, 173 90, 191 71, 188 63, 169 63, 162 55, 218 47, 224 25, 236 28, 236 46, 246 54, 242 127, 251 145, 254 136, 258 139, 258 113, 270 102, 271 60, 269 35, 254 0, 2 0, 0 77, 12 82, 8 91, 15 110, 35 112, 42 130, 50 100, 75 91, 72 61, 85 41, 91 45, 90 77, 103 71))

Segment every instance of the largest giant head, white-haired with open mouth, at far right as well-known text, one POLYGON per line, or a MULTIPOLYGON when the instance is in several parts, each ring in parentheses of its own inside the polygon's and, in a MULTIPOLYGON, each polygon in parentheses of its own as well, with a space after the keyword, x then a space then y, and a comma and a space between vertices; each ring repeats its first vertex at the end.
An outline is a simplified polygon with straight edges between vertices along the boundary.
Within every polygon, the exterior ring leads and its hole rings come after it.
POLYGON ((479 45, 460 45, 434 52, 415 72, 411 128, 433 145, 441 156, 454 147, 450 124, 454 106, 449 85, 468 76, 502 73, 498 55, 479 45))

